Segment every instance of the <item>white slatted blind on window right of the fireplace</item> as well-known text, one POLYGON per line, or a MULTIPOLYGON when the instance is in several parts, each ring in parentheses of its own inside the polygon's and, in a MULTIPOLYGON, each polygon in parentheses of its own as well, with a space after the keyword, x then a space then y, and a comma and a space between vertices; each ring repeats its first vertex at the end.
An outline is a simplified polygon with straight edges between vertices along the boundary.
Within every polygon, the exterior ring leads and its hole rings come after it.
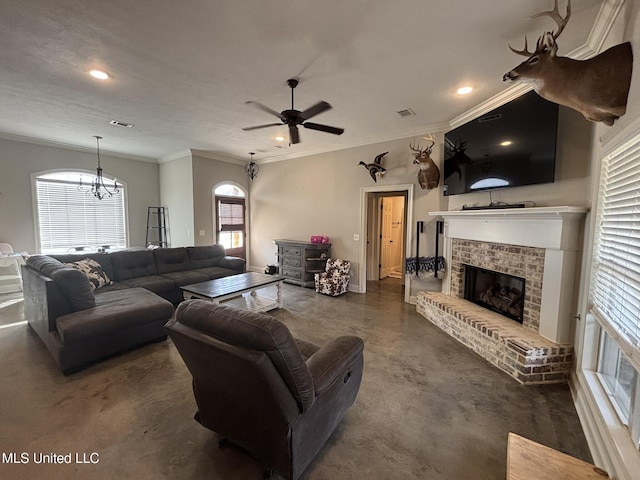
POLYGON ((602 162, 594 314, 640 369, 640 137, 602 162))

